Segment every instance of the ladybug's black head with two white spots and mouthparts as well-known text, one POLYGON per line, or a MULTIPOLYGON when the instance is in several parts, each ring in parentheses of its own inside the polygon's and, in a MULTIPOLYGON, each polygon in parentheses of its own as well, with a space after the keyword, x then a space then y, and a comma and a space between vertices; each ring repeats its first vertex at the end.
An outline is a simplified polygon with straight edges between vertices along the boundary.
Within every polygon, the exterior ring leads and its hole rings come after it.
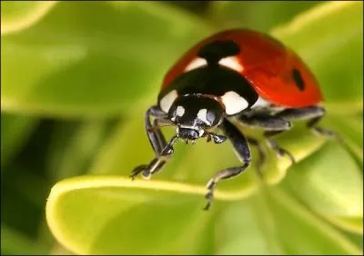
POLYGON ((168 118, 177 125, 177 136, 191 141, 207 135, 224 116, 224 107, 217 99, 198 94, 178 97, 168 111, 168 118))

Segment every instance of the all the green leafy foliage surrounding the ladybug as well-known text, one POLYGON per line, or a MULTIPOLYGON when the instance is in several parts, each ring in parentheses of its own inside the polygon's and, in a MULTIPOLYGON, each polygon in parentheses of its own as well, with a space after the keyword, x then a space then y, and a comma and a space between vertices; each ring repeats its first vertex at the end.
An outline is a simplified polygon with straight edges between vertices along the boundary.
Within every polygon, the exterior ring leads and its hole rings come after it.
POLYGON ((361 1, 1 2, 2 254, 362 254, 362 10, 361 1), (208 179, 238 163, 229 143, 180 143, 150 181, 127 176, 153 157, 144 113, 168 67, 231 27, 301 55, 325 95, 322 125, 345 144, 297 123, 278 136, 296 165, 265 147, 267 180, 254 158, 203 212, 208 179))

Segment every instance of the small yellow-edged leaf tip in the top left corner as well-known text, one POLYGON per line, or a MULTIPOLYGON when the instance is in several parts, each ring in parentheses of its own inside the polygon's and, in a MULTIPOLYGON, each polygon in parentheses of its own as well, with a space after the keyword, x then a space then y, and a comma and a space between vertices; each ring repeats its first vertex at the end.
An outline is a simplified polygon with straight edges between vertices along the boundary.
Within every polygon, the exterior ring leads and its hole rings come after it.
POLYGON ((2 1, 1 34, 19 32, 40 20, 56 1, 2 1))

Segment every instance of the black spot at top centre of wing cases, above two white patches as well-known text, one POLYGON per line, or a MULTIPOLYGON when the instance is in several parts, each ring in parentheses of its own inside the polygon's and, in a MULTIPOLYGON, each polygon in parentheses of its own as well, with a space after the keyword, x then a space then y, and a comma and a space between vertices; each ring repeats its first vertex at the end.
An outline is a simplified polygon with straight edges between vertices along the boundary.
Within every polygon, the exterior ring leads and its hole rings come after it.
POLYGON ((217 64, 222 58, 237 55, 240 50, 232 40, 217 40, 202 46, 197 55, 206 59, 208 64, 217 64))

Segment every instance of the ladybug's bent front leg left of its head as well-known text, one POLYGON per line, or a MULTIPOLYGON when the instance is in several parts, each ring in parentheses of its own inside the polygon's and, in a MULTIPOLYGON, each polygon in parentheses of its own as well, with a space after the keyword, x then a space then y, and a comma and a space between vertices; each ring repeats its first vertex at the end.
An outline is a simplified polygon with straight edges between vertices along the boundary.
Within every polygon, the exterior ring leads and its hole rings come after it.
POLYGON ((159 123, 169 123, 169 121, 167 120, 167 113, 161 111, 157 106, 152 106, 147 110, 145 123, 147 137, 156 153, 156 157, 149 164, 137 166, 130 175, 133 180, 140 172, 142 172, 144 178, 149 178, 151 174, 161 170, 170 154, 173 153, 173 143, 177 140, 177 136, 175 136, 169 143, 166 142, 163 133, 160 131, 159 123), (155 118, 153 124, 150 122, 151 117, 155 118))

